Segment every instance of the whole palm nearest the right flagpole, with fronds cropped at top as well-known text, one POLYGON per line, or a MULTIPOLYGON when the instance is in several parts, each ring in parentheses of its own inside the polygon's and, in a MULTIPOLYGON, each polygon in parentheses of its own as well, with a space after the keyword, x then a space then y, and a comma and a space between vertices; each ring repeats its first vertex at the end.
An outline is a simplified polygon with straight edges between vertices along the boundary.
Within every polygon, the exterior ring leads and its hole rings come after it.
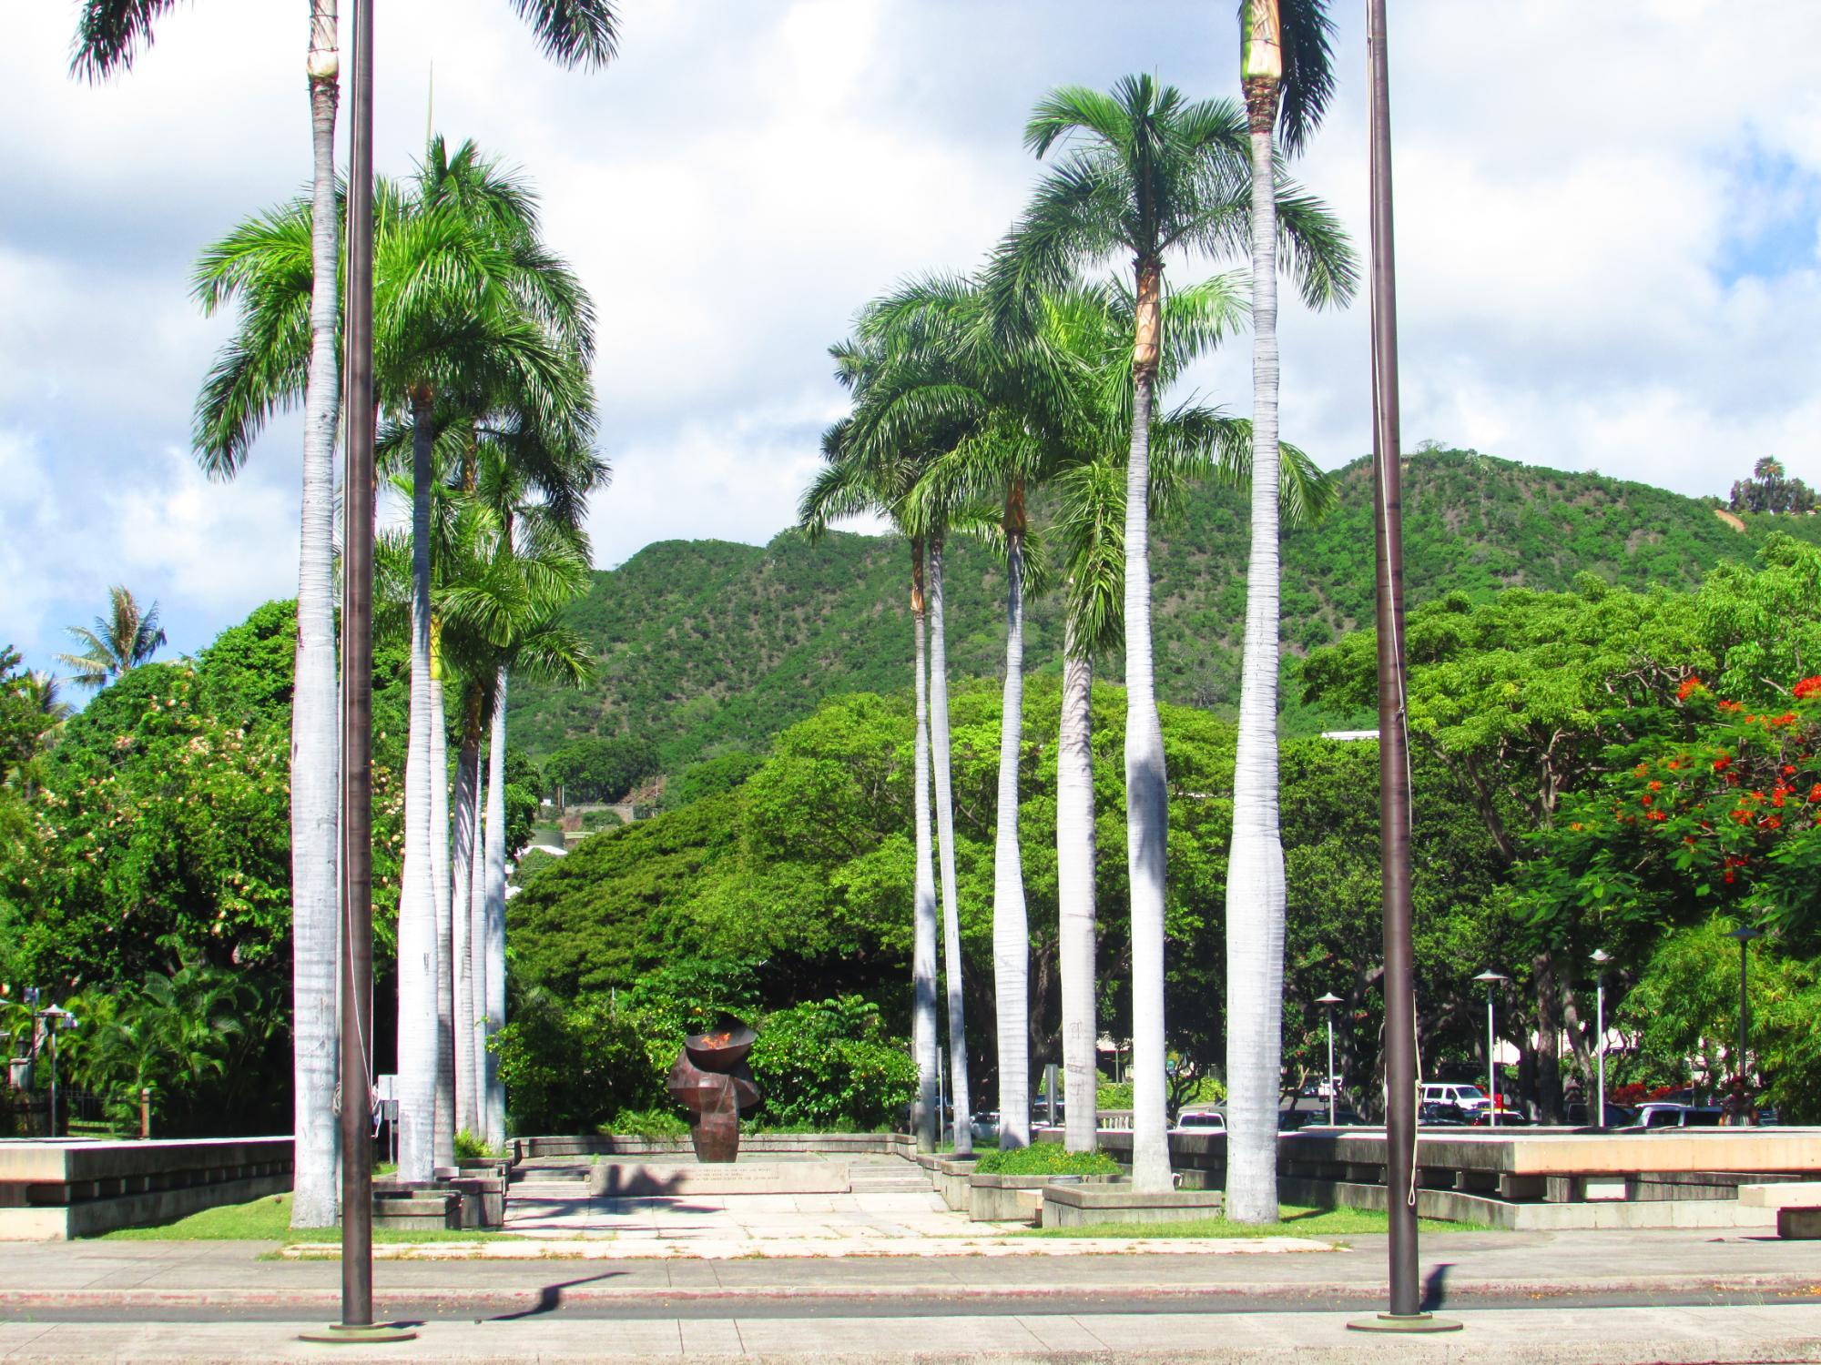
MULTIPOLYGON (((1295 153, 1333 91, 1326 0, 1246 0, 1240 78, 1251 151, 1253 470, 1251 562, 1227 861, 1227 1216, 1271 1223, 1284 1017, 1284 841, 1278 830, 1280 577, 1277 479, 1277 202, 1273 133, 1295 153)), ((1304 291, 1307 295, 1307 291, 1304 291)), ((1318 300, 1309 300, 1318 302, 1318 300)))

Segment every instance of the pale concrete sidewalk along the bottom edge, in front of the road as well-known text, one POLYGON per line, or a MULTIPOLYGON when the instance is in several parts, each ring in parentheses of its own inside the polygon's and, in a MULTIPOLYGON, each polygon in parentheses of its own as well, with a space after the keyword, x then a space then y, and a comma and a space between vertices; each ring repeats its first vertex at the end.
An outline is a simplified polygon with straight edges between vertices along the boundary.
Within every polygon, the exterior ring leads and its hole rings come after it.
POLYGON ((1348 1314, 1067 1314, 1002 1318, 617 1321, 568 1318, 426 1323, 386 1347, 308 1345, 320 1321, 184 1325, 0 1323, 7 1361, 599 1361, 652 1360, 861 1365, 874 1361, 1497 1361, 1499 1365, 1694 1365, 1821 1361, 1821 1307, 1517 1309, 1457 1314, 1446 1336, 1384 1338, 1346 1329, 1348 1314))

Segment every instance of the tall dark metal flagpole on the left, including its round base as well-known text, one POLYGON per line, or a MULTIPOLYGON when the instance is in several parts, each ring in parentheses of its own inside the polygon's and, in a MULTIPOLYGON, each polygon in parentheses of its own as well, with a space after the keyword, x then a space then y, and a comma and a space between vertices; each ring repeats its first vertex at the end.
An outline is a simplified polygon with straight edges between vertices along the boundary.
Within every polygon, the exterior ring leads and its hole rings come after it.
POLYGON ((342 431, 342 1316, 310 1341, 408 1341, 373 1323, 373 0, 353 0, 342 431))

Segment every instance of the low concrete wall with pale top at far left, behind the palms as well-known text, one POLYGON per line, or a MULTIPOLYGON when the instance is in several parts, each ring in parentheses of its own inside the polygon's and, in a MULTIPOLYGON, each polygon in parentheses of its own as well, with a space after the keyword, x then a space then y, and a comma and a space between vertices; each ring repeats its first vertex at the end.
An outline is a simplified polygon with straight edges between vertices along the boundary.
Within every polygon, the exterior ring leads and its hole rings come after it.
POLYGON ((291 1188, 290 1138, 0 1141, 0 1241, 66 1241, 291 1188))

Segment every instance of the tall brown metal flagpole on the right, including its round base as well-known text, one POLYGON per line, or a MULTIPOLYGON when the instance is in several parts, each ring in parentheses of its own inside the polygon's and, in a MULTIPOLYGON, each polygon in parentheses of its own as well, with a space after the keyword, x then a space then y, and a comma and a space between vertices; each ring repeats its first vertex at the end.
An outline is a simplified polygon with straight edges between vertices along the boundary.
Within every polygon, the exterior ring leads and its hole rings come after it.
POLYGON ((1378 819, 1384 877, 1384 1159, 1389 1214, 1389 1312, 1358 1330, 1444 1332, 1459 1321, 1422 1312, 1417 1278, 1417 988, 1409 935, 1409 733, 1404 713, 1404 522, 1397 413, 1397 275, 1391 246, 1391 116, 1384 0, 1366 0, 1371 162, 1373 524, 1378 597, 1378 819))

